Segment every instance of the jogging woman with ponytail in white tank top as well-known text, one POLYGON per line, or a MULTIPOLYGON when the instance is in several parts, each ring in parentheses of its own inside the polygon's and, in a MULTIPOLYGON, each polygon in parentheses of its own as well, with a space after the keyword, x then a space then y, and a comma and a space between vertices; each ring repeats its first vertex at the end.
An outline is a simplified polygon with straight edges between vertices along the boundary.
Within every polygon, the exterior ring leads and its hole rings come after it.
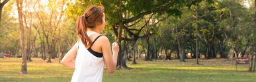
POLYGON ((87 8, 77 19, 78 40, 62 59, 62 64, 75 69, 71 82, 101 82, 104 65, 108 73, 114 73, 119 46, 114 42, 112 52, 110 42, 102 36, 105 28, 104 7, 95 5, 87 8))

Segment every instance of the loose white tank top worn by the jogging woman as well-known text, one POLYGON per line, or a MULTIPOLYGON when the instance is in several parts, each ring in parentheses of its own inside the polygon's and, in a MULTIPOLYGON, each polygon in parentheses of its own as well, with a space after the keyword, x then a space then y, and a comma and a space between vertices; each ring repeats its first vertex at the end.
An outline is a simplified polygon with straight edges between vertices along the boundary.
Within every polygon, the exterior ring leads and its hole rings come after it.
MULTIPOLYGON (((87 32, 88 36, 97 32, 87 32)), ((103 78, 103 57, 98 58, 91 54, 81 40, 75 44, 79 46, 75 58, 75 71, 71 82, 101 82, 103 78)))

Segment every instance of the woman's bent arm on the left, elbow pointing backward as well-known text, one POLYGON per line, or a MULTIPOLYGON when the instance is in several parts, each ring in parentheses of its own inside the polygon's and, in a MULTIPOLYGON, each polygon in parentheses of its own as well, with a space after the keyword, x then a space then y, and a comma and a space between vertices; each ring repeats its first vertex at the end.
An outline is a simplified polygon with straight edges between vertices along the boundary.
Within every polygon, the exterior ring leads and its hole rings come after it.
POLYGON ((77 56, 77 44, 75 44, 62 59, 62 64, 75 69, 75 61, 73 59, 77 56))

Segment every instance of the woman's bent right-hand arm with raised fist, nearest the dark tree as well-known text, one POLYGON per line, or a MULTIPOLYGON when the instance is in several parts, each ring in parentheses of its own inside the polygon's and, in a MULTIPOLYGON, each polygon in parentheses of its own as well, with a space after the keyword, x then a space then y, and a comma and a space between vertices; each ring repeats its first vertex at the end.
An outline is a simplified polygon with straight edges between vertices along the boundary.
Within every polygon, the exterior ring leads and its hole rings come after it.
POLYGON ((106 63, 107 71, 108 73, 114 73, 116 69, 119 46, 118 44, 116 44, 116 42, 112 44, 112 54, 108 38, 106 36, 103 36, 101 39, 101 43, 103 43, 101 44, 101 48, 103 51, 103 57, 106 63))

